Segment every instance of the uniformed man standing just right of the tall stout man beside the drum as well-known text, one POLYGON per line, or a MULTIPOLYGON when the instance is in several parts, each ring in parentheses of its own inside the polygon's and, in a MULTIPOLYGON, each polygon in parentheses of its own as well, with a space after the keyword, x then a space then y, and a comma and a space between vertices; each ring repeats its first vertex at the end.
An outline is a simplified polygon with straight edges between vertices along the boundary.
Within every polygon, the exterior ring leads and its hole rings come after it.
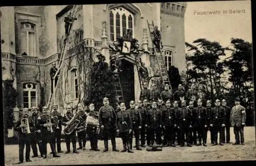
POLYGON ((116 115, 116 128, 117 133, 120 135, 123 141, 123 150, 121 152, 128 151, 134 153, 131 150, 131 143, 129 142, 129 134, 132 132, 133 123, 129 112, 125 111, 126 107, 124 103, 120 104, 121 111, 116 115))

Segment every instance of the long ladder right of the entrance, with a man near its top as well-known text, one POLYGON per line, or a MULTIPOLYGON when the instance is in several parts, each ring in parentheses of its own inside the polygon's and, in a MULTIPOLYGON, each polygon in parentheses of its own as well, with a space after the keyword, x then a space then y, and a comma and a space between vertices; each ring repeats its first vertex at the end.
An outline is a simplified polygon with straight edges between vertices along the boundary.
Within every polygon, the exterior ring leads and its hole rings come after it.
POLYGON ((162 50, 160 48, 159 52, 157 52, 156 45, 153 43, 153 41, 154 41, 153 34, 155 32, 154 22, 152 21, 152 24, 150 24, 148 22, 148 20, 146 20, 146 21, 147 21, 148 30, 150 31, 151 41, 152 41, 153 49, 154 49, 154 52, 155 52, 157 65, 158 65, 158 68, 160 70, 159 72, 160 72, 160 75, 161 75, 161 78, 162 78, 162 84, 163 84, 163 86, 165 84, 168 84, 169 87, 170 87, 170 90, 172 90, 172 86, 170 84, 170 80, 169 80, 169 77, 168 77, 167 69, 166 69, 166 66, 164 64, 164 60, 163 60, 163 56, 162 56, 162 50))

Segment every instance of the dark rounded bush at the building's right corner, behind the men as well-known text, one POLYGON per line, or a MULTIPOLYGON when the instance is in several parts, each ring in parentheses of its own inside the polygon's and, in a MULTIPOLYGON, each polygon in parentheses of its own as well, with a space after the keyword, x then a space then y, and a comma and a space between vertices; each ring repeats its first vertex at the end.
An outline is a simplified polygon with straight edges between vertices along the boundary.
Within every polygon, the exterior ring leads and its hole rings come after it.
POLYGON ((173 90, 178 89, 178 85, 181 84, 179 69, 175 66, 170 66, 168 70, 168 76, 173 90))

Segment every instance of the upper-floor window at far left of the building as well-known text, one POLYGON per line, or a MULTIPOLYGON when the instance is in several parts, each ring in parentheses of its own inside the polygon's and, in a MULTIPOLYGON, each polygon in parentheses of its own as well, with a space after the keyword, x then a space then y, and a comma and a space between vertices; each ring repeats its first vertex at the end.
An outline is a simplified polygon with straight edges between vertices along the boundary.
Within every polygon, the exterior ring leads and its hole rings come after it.
POLYGON ((20 25, 20 53, 27 56, 36 54, 35 25, 29 22, 21 22, 20 25))

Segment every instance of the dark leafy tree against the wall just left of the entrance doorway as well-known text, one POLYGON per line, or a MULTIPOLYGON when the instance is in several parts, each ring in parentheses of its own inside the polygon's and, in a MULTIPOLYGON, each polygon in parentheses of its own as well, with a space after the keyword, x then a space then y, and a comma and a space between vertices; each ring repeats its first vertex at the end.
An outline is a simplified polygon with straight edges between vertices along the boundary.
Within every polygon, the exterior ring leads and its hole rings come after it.
POLYGON ((102 106, 104 97, 109 98, 110 103, 115 103, 115 79, 109 68, 109 64, 104 62, 102 54, 97 55, 98 62, 94 62, 90 73, 90 97, 89 102, 94 103, 95 108, 102 106))

